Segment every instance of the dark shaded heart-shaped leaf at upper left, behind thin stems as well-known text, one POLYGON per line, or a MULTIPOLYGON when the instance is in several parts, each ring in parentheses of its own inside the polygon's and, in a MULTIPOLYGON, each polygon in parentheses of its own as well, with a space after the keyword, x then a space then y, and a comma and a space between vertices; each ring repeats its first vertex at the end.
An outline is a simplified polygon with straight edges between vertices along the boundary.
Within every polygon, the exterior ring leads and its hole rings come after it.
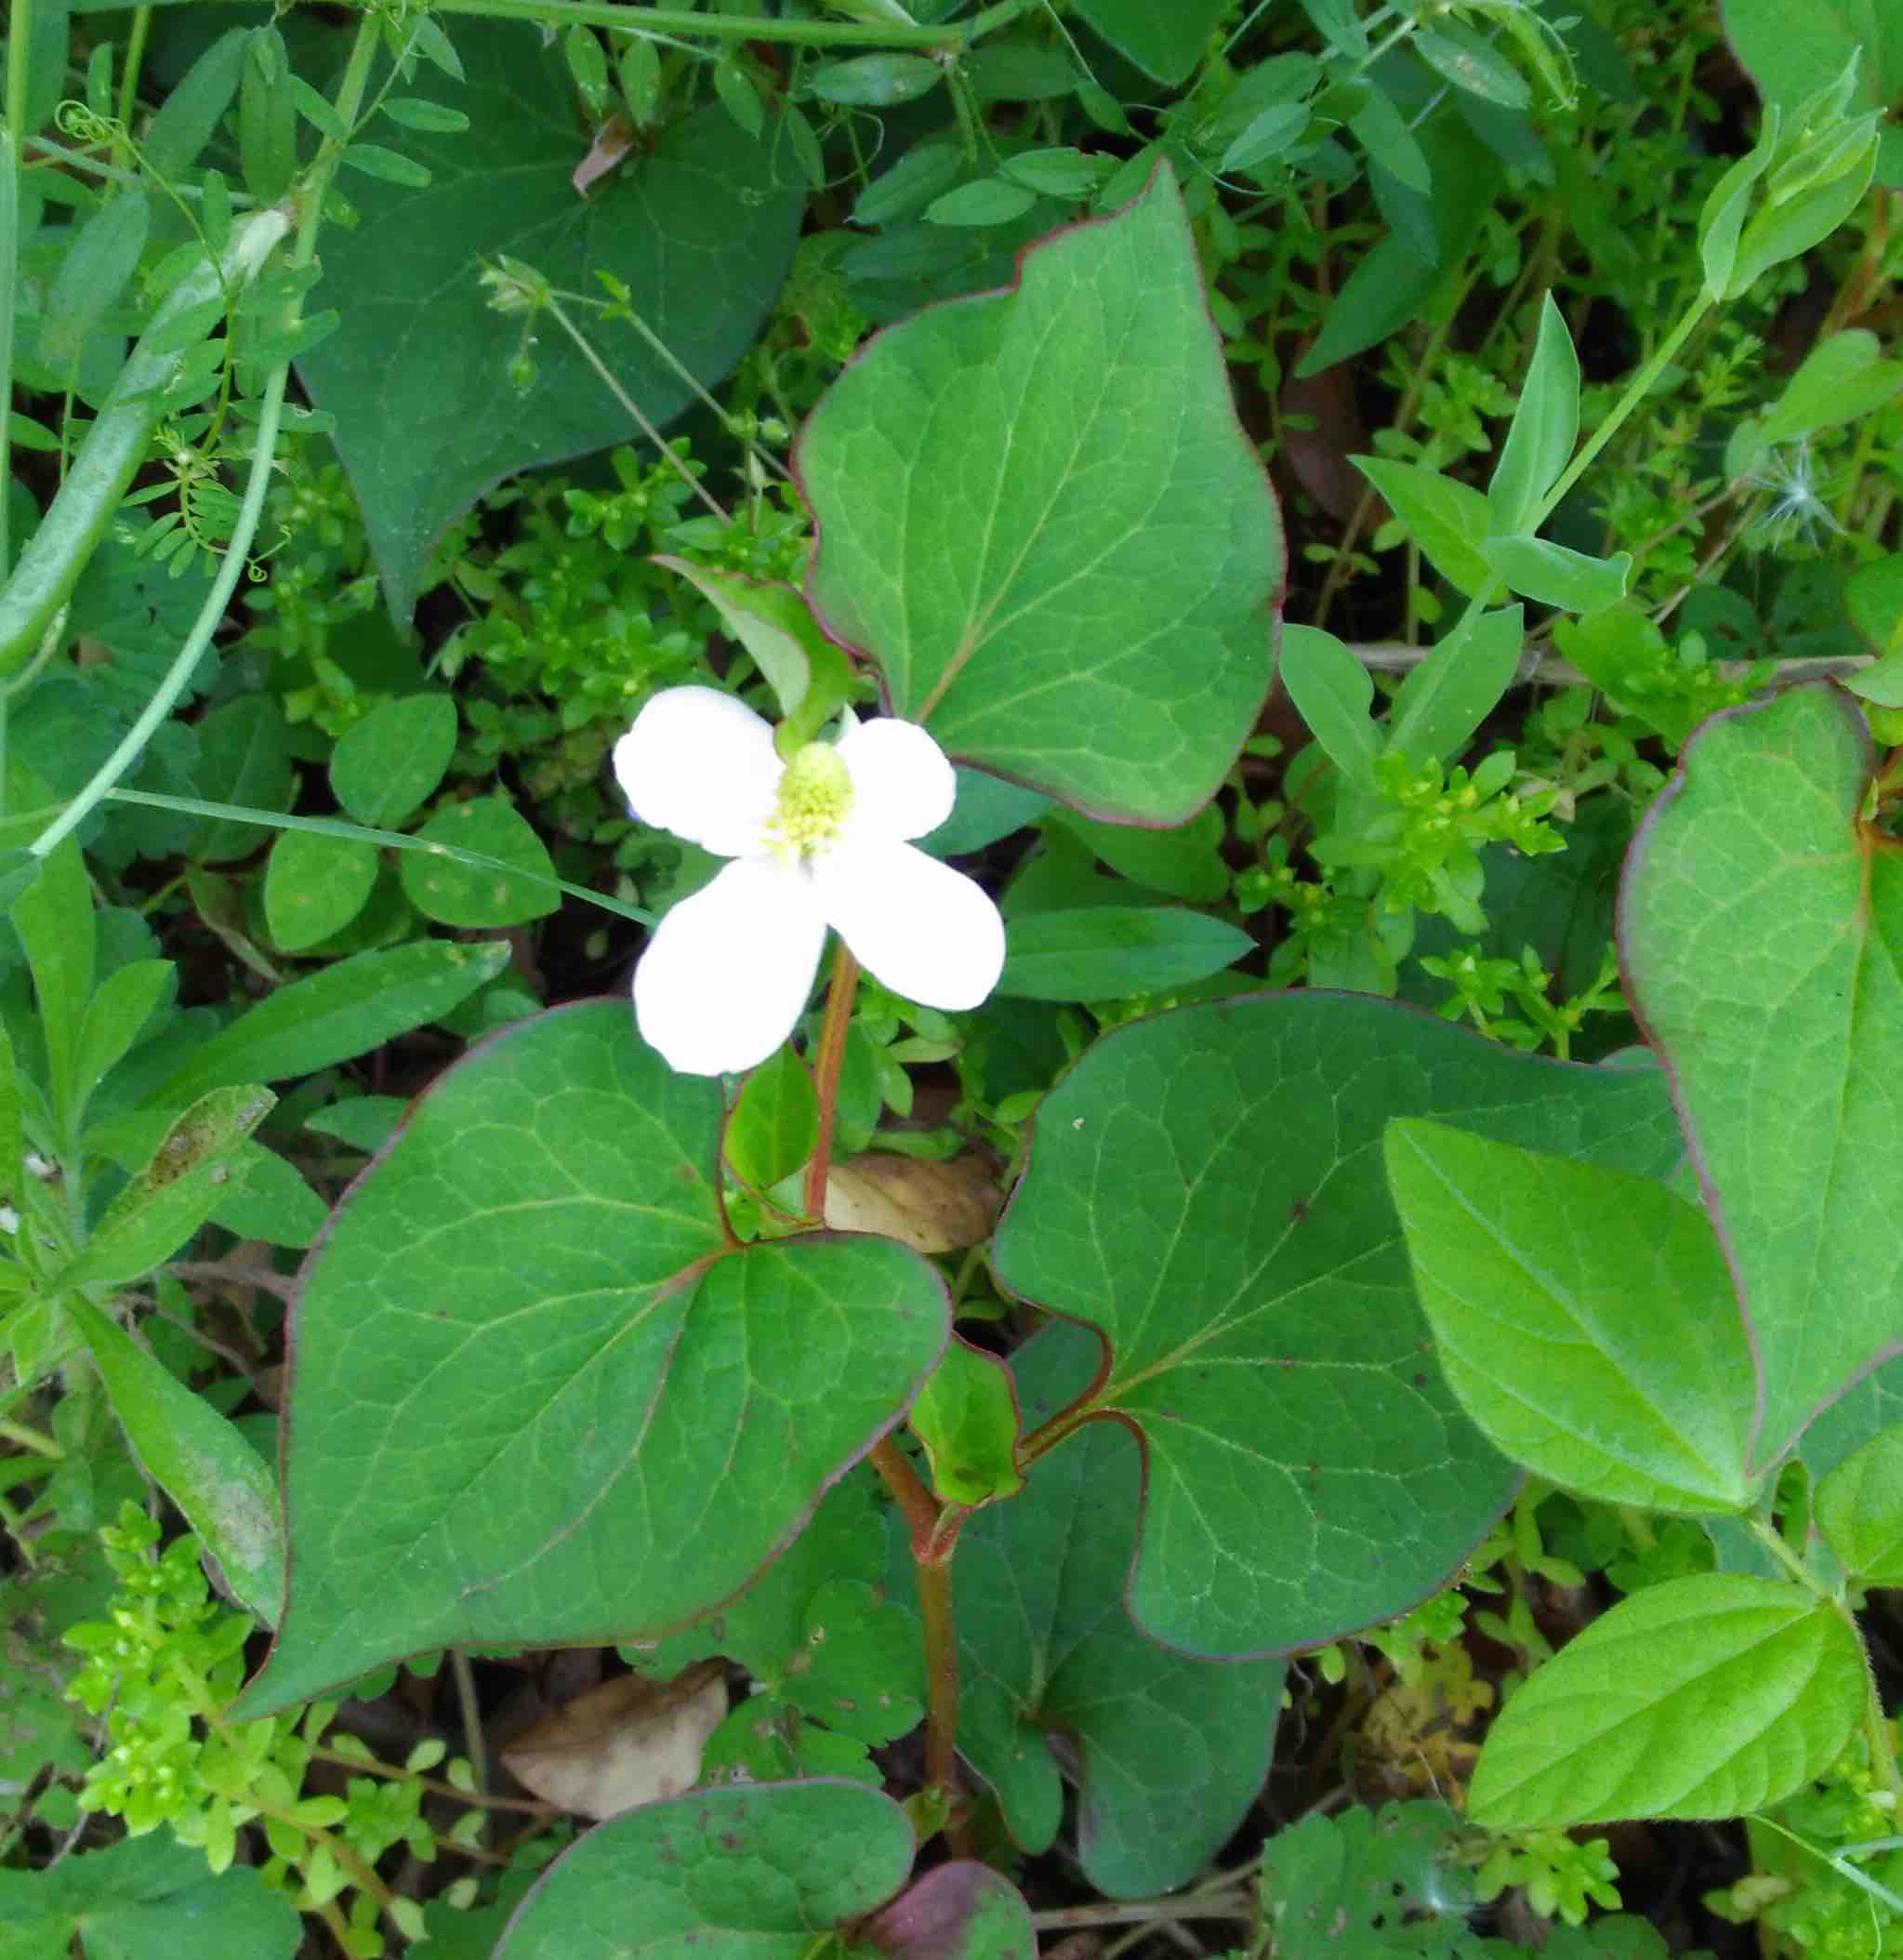
POLYGON ((582 331, 659 425, 692 402, 692 382, 719 380, 753 341, 805 210, 798 172, 776 169, 770 131, 751 141, 719 106, 668 123, 651 151, 578 198, 588 133, 561 49, 527 25, 468 20, 457 53, 466 80, 451 94, 472 127, 404 131, 404 153, 431 172, 427 188, 351 176, 359 223, 325 237, 310 302, 337 308, 343 323, 298 361, 316 404, 337 417, 337 451, 402 621, 443 525, 490 484, 639 435, 553 319, 531 327, 490 306, 484 263, 510 255, 559 290, 596 298, 596 267, 625 280, 678 367, 627 327, 584 318, 582 331), (525 331, 535 378, 515 388, 510 365, 525 331))

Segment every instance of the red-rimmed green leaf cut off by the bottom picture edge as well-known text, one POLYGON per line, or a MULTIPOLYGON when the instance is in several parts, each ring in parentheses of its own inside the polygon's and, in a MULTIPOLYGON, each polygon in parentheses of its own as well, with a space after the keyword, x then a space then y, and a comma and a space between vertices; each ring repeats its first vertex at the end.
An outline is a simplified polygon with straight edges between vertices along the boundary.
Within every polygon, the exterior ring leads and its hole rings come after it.
POLYGON ((876 1789, 698 1789, 623 1811, 557 1858, 494 1960, 804 1960, 909 1870, 911 1825, 876 1789))

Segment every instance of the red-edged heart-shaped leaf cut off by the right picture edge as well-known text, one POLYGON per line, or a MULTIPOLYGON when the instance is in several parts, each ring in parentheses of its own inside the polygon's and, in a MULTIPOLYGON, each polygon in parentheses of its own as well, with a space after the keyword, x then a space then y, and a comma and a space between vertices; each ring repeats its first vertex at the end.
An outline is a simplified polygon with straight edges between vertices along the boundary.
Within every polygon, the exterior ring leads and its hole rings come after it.
POLYGON ((1776 1462, 1903 1327, 1903 858, 1836 688, 1715 715, 1627 860, 1633 1005, 1672 1072, 1764 1366, 1776 1462))

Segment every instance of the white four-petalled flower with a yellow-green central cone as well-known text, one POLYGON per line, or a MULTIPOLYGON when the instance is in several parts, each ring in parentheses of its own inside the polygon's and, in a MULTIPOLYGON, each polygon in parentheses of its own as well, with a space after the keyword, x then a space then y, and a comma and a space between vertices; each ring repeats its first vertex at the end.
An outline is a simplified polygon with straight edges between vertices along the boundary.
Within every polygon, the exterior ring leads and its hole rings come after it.
POLYGON ((962 872, 905 839, 935 831, 956 778, 911 721, 862 721, 782 762, 772 729, 713 688, 668 688, 615 743, 643 823, 733 858, 655 927, 635 1019, 670 1068, 717 1076, 794 1031, 825 931, 905 1000, 976 1007, 1003 966, 1003 919, 962 872))

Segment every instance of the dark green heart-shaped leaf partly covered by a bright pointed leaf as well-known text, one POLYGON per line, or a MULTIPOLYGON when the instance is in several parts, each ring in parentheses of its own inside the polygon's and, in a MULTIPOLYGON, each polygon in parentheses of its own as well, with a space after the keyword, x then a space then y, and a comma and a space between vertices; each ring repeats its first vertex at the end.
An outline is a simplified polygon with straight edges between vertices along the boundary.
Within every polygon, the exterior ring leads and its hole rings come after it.
POLYGON ((1088 1409, 1143 1435, 1131 1609, 1194 1654, 1391 1619, 1515 1470, 1433 1360, 1382 1131, 1433 1115, 1664 1174, 1656 1070, 1535 1060, 1386 1002, 1258 994, 1105 1035, 1037 1113, 1000 1278, 1107 1337, 1088 1409))

